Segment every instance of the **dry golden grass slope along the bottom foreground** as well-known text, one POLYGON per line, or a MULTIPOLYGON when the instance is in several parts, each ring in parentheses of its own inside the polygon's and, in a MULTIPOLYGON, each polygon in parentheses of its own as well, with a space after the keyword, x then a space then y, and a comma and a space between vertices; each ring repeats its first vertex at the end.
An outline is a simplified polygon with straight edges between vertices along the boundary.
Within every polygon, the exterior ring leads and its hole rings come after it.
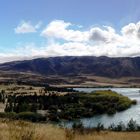
POLYGON ((0 140, 139 140, 140 132, 74 133, 48 124, 0 120, 0 140))

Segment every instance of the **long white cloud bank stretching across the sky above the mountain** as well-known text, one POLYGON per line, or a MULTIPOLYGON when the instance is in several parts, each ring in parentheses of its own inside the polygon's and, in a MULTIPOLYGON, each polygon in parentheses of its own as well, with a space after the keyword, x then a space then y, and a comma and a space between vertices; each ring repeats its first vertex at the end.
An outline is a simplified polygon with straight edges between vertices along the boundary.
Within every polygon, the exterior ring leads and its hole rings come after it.
MULTIPOLYGON (((40 25, 34 28, 37 29, 40 25)), ((47 44, 38 46, 29 43, 18 46, 10 53, 0 53, 0 62, 50 56, 140 56, 140 22, 122 27, 120 33, 110 26, 92 27, 88 30, 75 26, 62 20, 52 21, 41 32, 41 36, 48 39, 47 44)))

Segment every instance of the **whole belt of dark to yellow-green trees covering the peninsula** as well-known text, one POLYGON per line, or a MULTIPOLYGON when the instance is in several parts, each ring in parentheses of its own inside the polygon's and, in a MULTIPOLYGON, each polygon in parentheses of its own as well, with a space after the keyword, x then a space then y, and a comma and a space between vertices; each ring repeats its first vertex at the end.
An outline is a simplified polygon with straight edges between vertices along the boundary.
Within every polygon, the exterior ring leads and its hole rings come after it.
POLYGON ((38 110, 44 110, 45 113, 41 121, 59 121, 61 119, 72 120, 92 117, 103 113, 111 115, 129 108, 134 103, 128 97, 111 90, 95 91, 90 94, 74 92, 62 95, 55 93, 48 95, 9 95, 5 112, 17 113, 18 119, 38 121, 40 119, 33 116, 38 114, 38 110))

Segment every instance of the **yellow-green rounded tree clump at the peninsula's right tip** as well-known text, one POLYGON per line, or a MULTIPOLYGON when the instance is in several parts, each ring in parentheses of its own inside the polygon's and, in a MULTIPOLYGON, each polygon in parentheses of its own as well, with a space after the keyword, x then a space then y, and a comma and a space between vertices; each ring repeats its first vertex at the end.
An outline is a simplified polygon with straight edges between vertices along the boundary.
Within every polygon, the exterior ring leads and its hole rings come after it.
POLYGON ((96 113, 108 113, 114 114, 116 111, 123 111, 129 108, 134 102, 131 101, 128 97, 113 92, 111 90, 104 91, 95 91, 91 94, 83 95, 83 99, 89 98, 87 105, 89 108, 96 110, 96 113))

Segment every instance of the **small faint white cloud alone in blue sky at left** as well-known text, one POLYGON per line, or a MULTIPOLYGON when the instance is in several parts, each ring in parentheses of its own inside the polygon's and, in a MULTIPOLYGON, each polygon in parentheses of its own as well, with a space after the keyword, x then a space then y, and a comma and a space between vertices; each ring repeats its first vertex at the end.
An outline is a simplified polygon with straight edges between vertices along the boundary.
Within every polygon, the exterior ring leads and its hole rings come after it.
POLYGON ((22 21, 14 30, 17 34, 34 33, 40 28, 41 22, 33 26, 29 21, 22 21))

